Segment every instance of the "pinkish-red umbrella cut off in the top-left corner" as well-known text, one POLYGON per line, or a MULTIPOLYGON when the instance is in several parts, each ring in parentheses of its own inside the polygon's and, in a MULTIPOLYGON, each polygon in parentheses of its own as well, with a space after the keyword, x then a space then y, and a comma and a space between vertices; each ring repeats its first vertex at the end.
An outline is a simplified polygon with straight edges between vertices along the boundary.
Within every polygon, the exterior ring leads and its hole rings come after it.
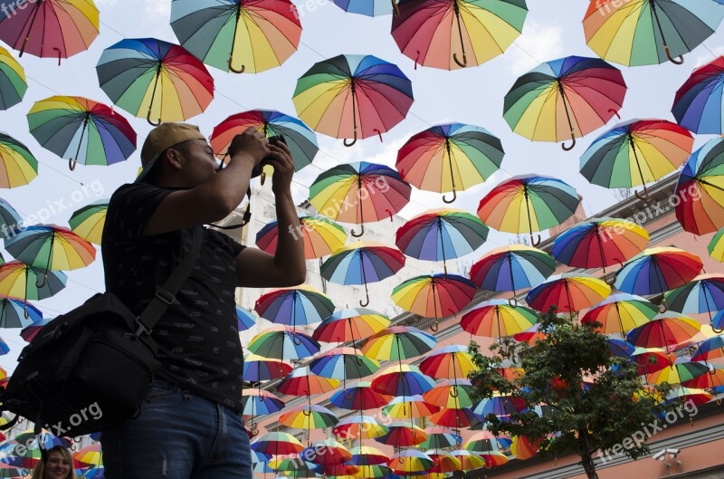
MULTIPOLYGON (((4 3, 5 5, 5 3, 4 3)), ((0 18, 0 40, 41 58, 68 58, 88 50, 99 33, 99 12, 89 0, 41 0, 9 4, 0 18), (28 5, 30 4, 30 5, 28 5), (27 8, 30 6, 30 8, 27 8)))

